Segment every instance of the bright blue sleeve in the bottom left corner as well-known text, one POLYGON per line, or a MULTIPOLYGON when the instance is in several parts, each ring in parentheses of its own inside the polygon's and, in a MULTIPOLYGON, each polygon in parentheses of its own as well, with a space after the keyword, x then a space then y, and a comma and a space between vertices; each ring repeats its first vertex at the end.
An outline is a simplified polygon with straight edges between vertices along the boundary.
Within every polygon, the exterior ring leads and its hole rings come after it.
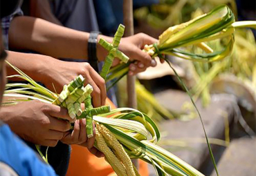
POLYGON ((0 162, 10 166, 18 175, 56 175, 50 165, 45 164, 35 152, 26 146, 10 128, 0 123, 0 162))

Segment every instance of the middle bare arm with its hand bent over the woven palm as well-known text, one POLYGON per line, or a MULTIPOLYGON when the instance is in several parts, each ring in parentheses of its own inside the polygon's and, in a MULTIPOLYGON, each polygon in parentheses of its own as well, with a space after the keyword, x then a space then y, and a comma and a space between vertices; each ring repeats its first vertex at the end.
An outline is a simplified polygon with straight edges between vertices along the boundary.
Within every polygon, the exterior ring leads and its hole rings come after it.
MULTIPOLYGON (((85 78, 84 84, 91 84, 93 106, 103 106, 107 97, 104 79, 86 62, 60 61, 45 55, 8 51, 8 61, 35 81, 40 81, 48 89, 61 92, 63 86, 78 75, 85 78), (54 88, 53 88, 54 85, 54 88)), ((7 65, 7 75, 17 72, 7 65)), ((12 79, 17 80, 17 79, 12 79)))

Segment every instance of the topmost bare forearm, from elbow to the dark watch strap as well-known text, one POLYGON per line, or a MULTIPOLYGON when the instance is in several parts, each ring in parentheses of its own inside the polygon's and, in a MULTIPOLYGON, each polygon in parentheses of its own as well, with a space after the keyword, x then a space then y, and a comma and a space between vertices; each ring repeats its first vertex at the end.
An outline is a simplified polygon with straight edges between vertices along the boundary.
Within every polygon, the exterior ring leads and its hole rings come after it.
POLYGON ((89 33, 33 17, 15 17, 10 24, 9 46, 34 50, 55 58, 87 59, 89 33))

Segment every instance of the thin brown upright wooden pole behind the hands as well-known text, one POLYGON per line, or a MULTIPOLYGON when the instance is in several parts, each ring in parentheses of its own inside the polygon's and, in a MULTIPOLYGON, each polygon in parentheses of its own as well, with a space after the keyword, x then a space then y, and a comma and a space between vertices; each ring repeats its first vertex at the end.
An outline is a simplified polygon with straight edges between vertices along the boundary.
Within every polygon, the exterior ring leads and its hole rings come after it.
MULTIPOLYGON (((134 35, 134 14, 132 0, 123 0, 123 18, 125 25, 125 37, 134 35)), ((135 91, 135 77, 127 76, 128 107, 137 108, 135 91)), ((138 159, 132 159, 134 166, 138 169, 138 159)))

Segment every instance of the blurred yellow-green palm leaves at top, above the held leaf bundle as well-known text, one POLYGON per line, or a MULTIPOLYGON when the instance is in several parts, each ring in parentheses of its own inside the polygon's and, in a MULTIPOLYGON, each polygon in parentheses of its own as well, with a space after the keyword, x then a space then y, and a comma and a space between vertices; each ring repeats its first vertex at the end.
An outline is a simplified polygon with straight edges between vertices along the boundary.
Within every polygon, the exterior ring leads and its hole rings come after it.
POLYGON ((234 14, 237 14, 235 0, 205 0, 205 1, 160 1, 149 7, 134 11, 134 18, 147 23, 154 29, 166 29, 191 19, 191 14, 197 9, 208 10, 221 4, 227 4, 234 14))

